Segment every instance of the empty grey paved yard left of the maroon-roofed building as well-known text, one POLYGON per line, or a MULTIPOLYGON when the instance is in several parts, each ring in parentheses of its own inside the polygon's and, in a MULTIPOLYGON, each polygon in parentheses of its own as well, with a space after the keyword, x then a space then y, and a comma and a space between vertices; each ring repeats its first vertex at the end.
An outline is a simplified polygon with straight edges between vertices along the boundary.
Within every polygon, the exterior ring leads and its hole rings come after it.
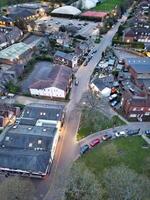
POLYGON ((22 81, 21 89, 23 93, 29 92, 29 86, 40 79, 44 80, 48 77, 50 71, 52 70, 53 65, 50 62, 41 61, 37 62, 34 66, 32 73, 22 81))

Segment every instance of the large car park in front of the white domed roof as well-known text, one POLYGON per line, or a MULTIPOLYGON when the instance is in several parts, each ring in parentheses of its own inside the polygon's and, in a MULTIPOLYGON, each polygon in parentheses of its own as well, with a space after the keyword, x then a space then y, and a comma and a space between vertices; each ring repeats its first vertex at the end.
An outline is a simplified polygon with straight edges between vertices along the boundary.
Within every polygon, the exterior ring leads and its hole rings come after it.
POLYGON ((64 26, 75 26, 78 29, 78 33, 82 36, 89 37, 94 34, 98 23, 95 22, 87 22, 80 21, 77 19, 66 19, 66 18, 58 18, 58 17, 43 17, 36 21, 36 24, 45 24, 47 27, 47 32, 58 31, 61 25, 64 26))

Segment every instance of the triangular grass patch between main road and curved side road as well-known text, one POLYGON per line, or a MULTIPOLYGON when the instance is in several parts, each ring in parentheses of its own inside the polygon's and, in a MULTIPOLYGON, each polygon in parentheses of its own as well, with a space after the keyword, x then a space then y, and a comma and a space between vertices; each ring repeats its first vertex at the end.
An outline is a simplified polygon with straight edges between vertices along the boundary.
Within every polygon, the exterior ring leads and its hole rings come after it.
POLYGON ((80 126, 77 134, 77 139, 80 140, 97 131, 125 125, 118 116, 113 116, 108 119, 99 111, 83 111, 81 115, 80 126))

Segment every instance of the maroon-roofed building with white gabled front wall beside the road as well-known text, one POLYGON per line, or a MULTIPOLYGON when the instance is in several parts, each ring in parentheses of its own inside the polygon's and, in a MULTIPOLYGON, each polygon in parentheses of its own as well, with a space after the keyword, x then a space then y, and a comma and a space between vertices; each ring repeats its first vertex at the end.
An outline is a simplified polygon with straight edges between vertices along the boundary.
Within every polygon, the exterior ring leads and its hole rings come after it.
POLYGON ((29 90, 31 95, 65 99, 72 81, 72 70, 66 66, 56 65, 48 79, 34 82, 29 90))

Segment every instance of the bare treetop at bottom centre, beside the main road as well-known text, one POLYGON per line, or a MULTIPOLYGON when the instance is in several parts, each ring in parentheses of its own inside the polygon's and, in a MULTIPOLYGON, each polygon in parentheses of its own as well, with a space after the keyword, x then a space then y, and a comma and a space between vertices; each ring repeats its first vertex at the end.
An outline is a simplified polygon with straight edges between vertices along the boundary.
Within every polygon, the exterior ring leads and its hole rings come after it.
POLYGON ((74 164, 65 191, 65 200, 101 200, 102 189, 84 164, 74 164))

